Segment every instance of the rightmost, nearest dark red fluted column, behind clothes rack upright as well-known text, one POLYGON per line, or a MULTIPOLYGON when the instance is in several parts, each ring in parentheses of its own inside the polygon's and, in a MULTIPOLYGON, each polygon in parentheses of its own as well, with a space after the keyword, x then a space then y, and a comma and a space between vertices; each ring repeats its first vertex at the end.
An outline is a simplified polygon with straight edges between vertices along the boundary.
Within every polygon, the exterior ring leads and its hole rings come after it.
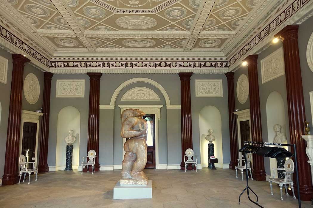
MULTIPOLYGON (((305 134, 305 108, 299 58, 298 27, 298 25, 286 26, 275 36, 280 37, 283 41, 290 143, 296 144, 300 198, 304 201, 310 201, 313 198, 312 179, 310 165, 307 163, 308 157, 305 153, 305 140, 301 138, 301 135, 305 134)), ((296 185, 295 177, 294 183, 296 185)), ((296 188, 295 192, 298 196, 296 188)))

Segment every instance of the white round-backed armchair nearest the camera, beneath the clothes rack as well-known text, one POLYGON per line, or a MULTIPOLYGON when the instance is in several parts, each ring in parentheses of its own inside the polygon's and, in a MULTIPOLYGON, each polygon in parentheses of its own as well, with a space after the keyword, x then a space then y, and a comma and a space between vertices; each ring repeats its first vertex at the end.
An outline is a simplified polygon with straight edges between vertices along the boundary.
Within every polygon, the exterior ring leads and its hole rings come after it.
POLYGON ((280 187, 280 200, 283 200, 283 185, 285 185, 285 189, 286 189, 286 195, 289 196, 288 192, 287 192, 287 185, 289 186, 289 184, 291 185, 291 190, 293 193, 293 198, 295 199, 295 191, 294 191, 294 187, 293 187, 293 180, 291 178, 291 174, 294 173, 295 171, 295 163, 292 161, 292 159, 287 159, 285 161, 285 165, 284 168, 272 168, 273 171, 273 175, 269 178, 269 186, 271 188, 271 195, 273 195, 273 188, 272 188, 272 183, 277 183, 280 187), (275 177, 275 170, 283 170, 284 171, 284 175, 285 178, 276 178, 275 177))

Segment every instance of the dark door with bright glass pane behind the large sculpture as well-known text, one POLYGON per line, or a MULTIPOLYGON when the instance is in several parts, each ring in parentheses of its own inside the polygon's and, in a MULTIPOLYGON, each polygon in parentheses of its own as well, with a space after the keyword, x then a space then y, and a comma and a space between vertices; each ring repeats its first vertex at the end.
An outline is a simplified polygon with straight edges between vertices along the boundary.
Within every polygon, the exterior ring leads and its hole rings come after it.
POLYGON ((142 117, 147 121, 147 164, 145 168, 156 168, 155 115, 146 114, 142 117))

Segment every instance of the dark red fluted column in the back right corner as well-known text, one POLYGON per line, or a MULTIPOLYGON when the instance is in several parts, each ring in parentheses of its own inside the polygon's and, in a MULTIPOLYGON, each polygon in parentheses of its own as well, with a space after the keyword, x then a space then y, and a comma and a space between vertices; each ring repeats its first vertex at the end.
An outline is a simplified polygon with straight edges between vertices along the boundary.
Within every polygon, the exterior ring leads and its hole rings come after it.
POLYGON ((234 73, 228 72, 227 77, 228 89, 228 122, 229 122, 229 139, 230 139, 230 162, 229 168, 235 169, 238 165, 238 139, 235 112, 235 92, 234 92, 234 73))

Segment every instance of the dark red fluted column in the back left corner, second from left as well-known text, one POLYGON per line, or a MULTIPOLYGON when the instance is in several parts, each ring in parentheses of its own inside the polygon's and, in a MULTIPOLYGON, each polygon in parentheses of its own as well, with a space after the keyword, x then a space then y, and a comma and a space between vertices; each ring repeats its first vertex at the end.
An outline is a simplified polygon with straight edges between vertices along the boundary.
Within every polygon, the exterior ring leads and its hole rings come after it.
POLYGON ((53 74, 44 72, 44 97, 42 101, 42 123, 40 134, 40 152, 38 172, 44 173, 49 171, 48 166, 48 140, 49 140, 49 118, 50 118, 50 94, 51 94, 51 80, 53 74))

